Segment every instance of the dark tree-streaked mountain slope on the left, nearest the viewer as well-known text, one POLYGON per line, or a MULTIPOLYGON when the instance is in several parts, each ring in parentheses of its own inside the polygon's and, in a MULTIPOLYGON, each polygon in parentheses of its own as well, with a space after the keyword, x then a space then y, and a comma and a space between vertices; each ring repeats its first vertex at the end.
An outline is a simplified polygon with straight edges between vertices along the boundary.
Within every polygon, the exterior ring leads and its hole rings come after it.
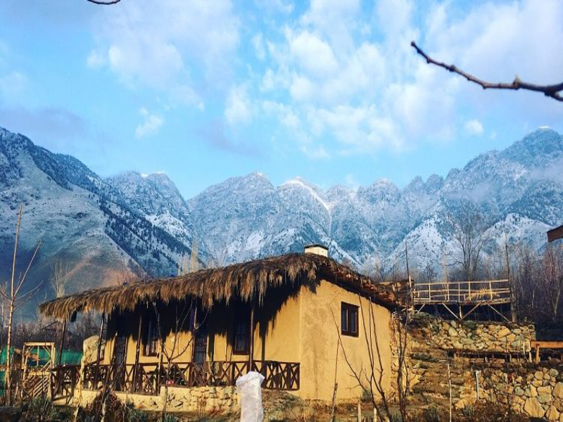
MULTIPOLYGON (((164 186, 161 197, 173 203, 172 188, 164 186)), ((119 282, 122 272, 131 267, 176 274, 179 257, 191 245, 189 219, 182 226, 186 239, 182 243, 151 222, 130 199, 125 189, 114 188, 79 160, 53 154, 0 128, 0 279, 6 280, 11 272, 20 204, 18 269, 25 269, 34 246, 42 240, 30 273, 33 283, 42 283, 39 300, 51 295, 49 275, 57 260, 69 264, 68 291, 119 282)))

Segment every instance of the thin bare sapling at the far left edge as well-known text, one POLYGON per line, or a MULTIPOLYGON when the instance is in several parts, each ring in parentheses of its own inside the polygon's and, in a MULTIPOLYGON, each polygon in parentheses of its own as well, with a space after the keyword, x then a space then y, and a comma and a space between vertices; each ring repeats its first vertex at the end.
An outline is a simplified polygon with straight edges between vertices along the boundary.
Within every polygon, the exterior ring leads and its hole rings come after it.
POLYGON ((30 300, 32 296, 37 293, 37 290, 41 286, 39 283, 34 288, 27 290, 26 293, 22 292, 22 288, 25 283, 25 279, 27 277, 27 273, 30 271, 30 267, 41 247, 41 241, 37 243, 37 248, 35 248, 33 255, 30 259, 29 264, 27 264, 27 268, 23 273, 23 276, 20 275, 18 280, 15 279, 15 263, 16 263, 16 255, 18 254, 18 240, 20 236, 20 224, 22 221, 22 212, 23 212, 23 205, 20 205, 20 211, 18 212, 18 224, 15 228, 15 244, 13 248, 13 261, 12 261, 12 274, 11 274, 11 281, 9 286, 4 286, 0 290, 0 295, 6 302, 8 303, 8 333, 6 339, 6 373, 4 375, 4 391, 6 394, 6 403, 11 404, 12 402, 12 383, 11 383, 11 369, 12 369, 12 356, 11 356, 11 347, 12 347, 12 334, 13 334, 13 314, 14 312, 20 308, 27 300, 30 300), (8 289, 9 287, 9 289, 8 289))

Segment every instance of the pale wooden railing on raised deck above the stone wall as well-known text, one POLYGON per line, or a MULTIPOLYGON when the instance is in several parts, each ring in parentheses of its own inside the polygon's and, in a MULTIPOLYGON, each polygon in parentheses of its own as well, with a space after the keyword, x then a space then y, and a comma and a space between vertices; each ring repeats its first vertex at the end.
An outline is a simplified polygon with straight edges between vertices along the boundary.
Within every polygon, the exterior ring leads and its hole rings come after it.
POLYGON ((415 305, 510 303, 510 283, 508 280, 416 283, 412 288, 412 300, 415 305))

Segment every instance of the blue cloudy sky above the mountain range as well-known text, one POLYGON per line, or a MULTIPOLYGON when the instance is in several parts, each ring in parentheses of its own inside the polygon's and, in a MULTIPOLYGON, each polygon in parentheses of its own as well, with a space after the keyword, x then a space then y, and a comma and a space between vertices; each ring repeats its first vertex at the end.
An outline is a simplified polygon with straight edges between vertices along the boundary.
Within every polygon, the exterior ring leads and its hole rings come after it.
POLYGON ((190 198, 260 171, 324 188, 445 176, 563 105, 483 79, 563 79, 563 2, 3 0, 0 126, 190 198))

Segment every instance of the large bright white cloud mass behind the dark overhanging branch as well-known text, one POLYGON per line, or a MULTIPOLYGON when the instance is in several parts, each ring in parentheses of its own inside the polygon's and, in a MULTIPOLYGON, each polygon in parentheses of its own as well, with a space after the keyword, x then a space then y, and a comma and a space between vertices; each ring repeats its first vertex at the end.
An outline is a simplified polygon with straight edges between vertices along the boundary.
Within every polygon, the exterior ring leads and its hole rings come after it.
MULTIPOLYGON (((452 142, 460 131, 484 133, 473 118, 483 110, 506 113, 519 107, 526 119, 530 113, 563 117, 555 101, 483 91, 428 65, 410 46, 415 39, 432 56, 493 81, 510 81, 518 73, 530 82, 557 82, 563 55, 553 51, 563 45, 562 2, 460 8, 443 1, 422 10, 412 0, 380 0, 372 16, 360 6, 359 1, 312 0, 284 27, 282 39, 266 43, 269 61, 260 90, 291 110, 292 121, 299 122, 296 139, 310 140, 303 153, 311 155, 320 141, 329 155, 452 142), (509 95, 510 103, 504 100, 509 95), (530 98, 537 105, 533 110, 530 98)), ((284 114, 276 113, 284 124, 284 114)))

